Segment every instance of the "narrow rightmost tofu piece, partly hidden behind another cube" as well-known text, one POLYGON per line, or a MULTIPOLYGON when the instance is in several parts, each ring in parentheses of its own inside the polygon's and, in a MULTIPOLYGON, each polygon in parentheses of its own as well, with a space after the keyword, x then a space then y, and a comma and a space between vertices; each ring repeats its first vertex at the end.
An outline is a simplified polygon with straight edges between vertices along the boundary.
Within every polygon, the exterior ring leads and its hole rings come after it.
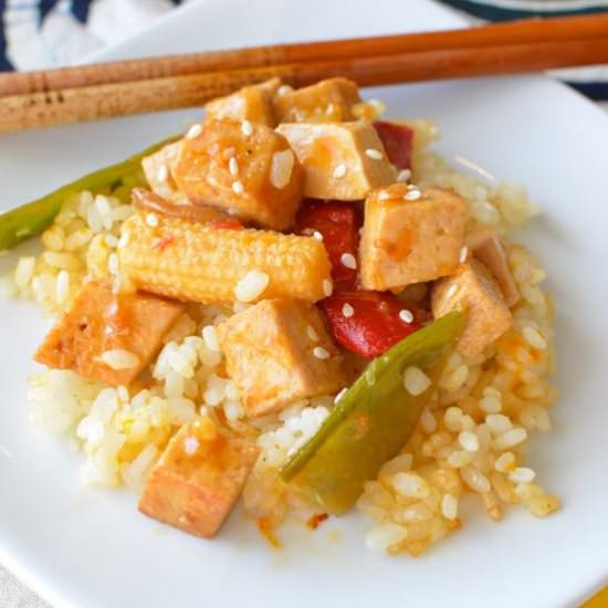
POLYGON ((501 287, 506 305, 511 308, 520 301, 520 290, 509 265, 506 248, 492 228, 482 228, 469 234, 467 243, 471 253, 490 271, 501 287))

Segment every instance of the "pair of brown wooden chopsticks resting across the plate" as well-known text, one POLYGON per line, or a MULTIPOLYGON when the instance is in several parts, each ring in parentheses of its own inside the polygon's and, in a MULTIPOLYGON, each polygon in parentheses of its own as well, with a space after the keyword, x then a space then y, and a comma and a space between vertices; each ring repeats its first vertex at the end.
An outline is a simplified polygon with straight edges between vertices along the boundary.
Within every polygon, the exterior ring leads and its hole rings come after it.
POLYGON ((359 86, 608 63, 608 14, 0 74, 0 133, 200 106, 279 76, 359 86))

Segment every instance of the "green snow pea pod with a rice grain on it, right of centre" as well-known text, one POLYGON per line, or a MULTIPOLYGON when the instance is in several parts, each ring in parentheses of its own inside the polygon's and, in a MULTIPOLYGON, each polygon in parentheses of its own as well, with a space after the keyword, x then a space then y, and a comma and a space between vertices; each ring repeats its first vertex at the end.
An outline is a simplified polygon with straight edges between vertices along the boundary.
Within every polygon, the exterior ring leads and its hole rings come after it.
POLYGON ((432 394, 434 382, 421 395, 410 395, 403 370, 417 366, 432 379, 463 322, 464 313, 450 313, 374 359, 316 434, 283 465, 281 479, 328 513, 348 511, 364 483, 399 453, 432 394))

